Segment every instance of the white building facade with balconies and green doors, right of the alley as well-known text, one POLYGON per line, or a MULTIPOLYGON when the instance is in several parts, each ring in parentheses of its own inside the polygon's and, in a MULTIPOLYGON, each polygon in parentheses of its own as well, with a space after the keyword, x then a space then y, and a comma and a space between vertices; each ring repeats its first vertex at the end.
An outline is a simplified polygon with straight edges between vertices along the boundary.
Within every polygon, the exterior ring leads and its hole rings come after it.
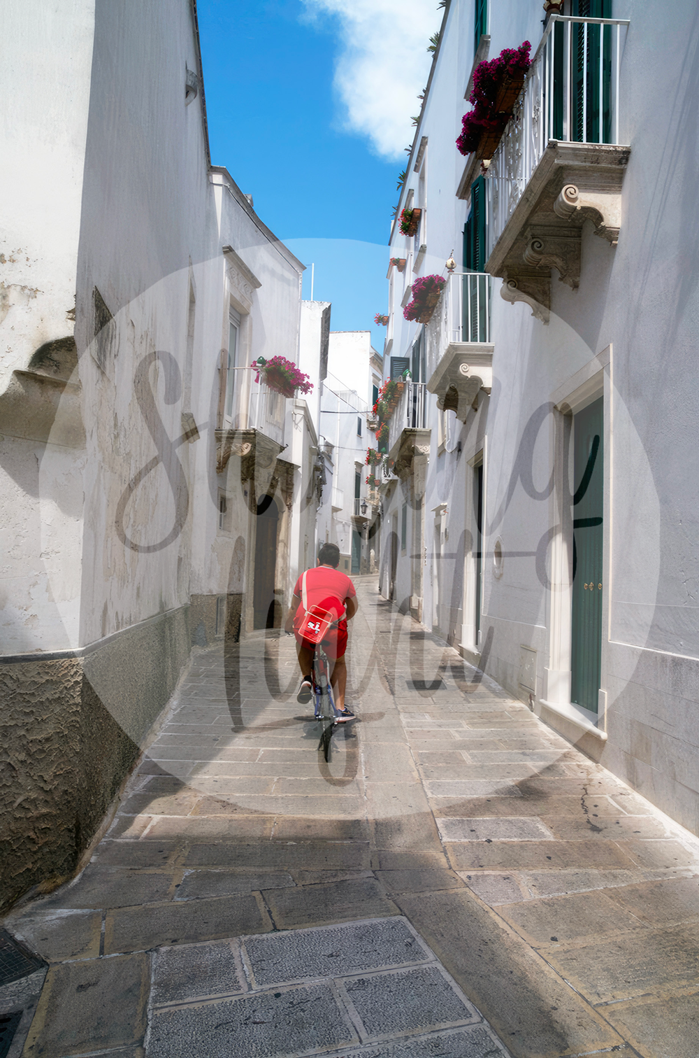
POLYGON ((381 587, 697 833, 695 5, 660 35, 657 0, 546 6, 444 12, 390 240, 381 587), (511 121, 463 158, 475 67, 525 40, 511 121))

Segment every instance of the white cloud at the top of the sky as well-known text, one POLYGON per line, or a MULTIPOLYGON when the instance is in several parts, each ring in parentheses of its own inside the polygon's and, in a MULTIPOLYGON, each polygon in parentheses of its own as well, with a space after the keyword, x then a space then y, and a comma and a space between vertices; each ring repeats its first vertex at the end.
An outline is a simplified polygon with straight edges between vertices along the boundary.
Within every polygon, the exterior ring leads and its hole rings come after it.
POLYGON ((335 88, 346 127, 369 138, 378 154, 405 159, 427 83, 429 37, 441 23, 436 0, 302 0, 310 16, 335 15, 343 51, 335 88))

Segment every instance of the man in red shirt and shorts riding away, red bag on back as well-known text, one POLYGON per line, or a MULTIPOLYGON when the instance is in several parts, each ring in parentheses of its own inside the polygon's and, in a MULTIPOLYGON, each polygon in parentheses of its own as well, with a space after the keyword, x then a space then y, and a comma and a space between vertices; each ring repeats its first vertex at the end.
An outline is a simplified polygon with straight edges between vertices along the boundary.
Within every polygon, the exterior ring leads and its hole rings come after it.
POLYGON ((339 548, 336 544, 324 544, 318 553, 318 565, 309 569, 298 578, 294 587, 291 607, 284 622, 286 632, 294 632, 298 650, 298 663, 301 669, 301 686, 296 700, 301 705, 311 700, 313 694, 313 655, 315 643, 303 639, 300 627, 306 615, 306 607, 320 607, 335 615, 323 639, 323 649, 331 665, 330 682, 335 692, 335 709, 338 724, 354 719, 354 713, 345 706, 345 690, 347 687, 347 665, 345 651, 347 650, 347 621, 354 617, 357 608, 356 592, 349 577, 341 573, 339 548), (302 579, 306 577, 306 606, 301 603, 303 595, 302 579))

